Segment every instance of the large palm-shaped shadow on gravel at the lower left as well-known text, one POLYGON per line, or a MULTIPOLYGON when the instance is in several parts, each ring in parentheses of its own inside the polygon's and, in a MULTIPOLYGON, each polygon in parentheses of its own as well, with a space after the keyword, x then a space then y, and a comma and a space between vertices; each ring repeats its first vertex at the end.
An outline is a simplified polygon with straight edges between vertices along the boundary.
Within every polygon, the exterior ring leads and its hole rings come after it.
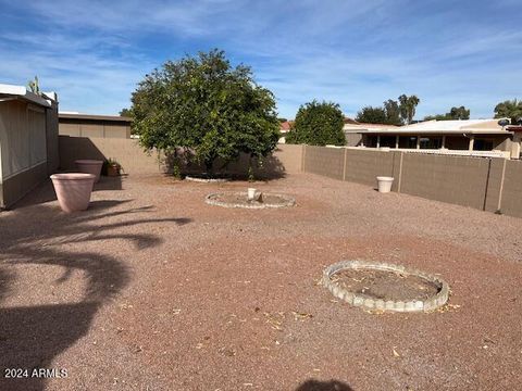
MULTIPOLYGON (((0 216, 0 305, 16 281, 15 265, 62 266, 53 281, 59 286, 78 278, 87 288, 80 302, 0 307, 0 390, 44 390, 47 380, 30 378, 34 368, 53 368, 57 355, 85 337, 97 311, 130 280, 127 266, 100 251, 80 251, 82 242, 125 240, 137 250, 151 248, 162 239, 150 234, 123 234, 122 229, 141 224, 172 222, 188 224, 188 218, 144 218, 152 206, 110 211, 125 201, 99 201, 76 214, 58 206, 33 204, 0 216), (117 216, 116 223, 103 219, 117 216), (67 251, 67 244, 76 244, 67 251), (5 379, 5 368, 24 368, 29 378, 5 379)), ((109 244, 110 245, 110 244, 109 244)), ((41 292, 48 295, 49 292, 41 292)), ((60 369, 60 368, 55 368, 60 369)), ((71 374, 70 374, 71 375, 71 374)))

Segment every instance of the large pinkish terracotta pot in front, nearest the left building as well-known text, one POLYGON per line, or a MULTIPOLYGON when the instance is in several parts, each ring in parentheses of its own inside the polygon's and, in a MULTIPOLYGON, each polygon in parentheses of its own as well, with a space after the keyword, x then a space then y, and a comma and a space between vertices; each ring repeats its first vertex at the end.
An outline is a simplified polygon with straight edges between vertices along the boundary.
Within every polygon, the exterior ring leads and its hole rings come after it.
POLYGON ((85 211, 89 206, 90 193, 95 185, 94 174, 54 174, 52 185, 57 192, 58 203, 63 212, 85 211))

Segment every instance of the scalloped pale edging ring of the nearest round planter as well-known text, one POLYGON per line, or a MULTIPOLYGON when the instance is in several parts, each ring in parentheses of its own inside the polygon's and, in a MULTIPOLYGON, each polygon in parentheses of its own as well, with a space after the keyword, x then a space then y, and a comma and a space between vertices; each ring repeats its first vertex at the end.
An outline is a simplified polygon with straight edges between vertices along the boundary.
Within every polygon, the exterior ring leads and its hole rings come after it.
POLYGON ((343 261, 330 265, 323 272, 323 286, 326 287, 334 297, 341 299, 353 306, 362 307, 363 310, 386 312, 430 312, 446 304, 449 297, 449 286, 442 278, 400 265, 366 261, 343 261), (436 286, 437 293, 424 300, 412 299, 408 301, 385 301, 363 293, 351 292, 332 280, 332 277, 336 273, 348 269, 391 272, 406 276, 419 277, 436 286))

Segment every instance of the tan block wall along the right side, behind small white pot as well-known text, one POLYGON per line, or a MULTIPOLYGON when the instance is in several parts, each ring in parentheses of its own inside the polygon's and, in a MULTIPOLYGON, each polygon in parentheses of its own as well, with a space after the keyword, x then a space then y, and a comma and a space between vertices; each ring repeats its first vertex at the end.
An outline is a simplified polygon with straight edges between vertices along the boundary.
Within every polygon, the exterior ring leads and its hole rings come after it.
POLYGON ((521 161, 311 146, 302 156, 307 173, 372 187, 393 176, 393 191, 522 217, 521 161))

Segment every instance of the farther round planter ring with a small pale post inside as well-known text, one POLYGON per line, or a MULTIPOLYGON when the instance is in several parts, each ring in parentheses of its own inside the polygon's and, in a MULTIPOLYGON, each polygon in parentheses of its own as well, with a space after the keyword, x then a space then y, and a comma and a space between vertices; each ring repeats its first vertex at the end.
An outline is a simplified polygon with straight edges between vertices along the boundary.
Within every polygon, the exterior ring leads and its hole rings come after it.
POLYGON ((288 195, 262 193, 263 202, 247 201, 246 191, 233 191, 211 193, 204 198, 204 202, 210 205, 223 206, 223 207, 245 207, 245 209, 268 209, 268 207, 288 207, 296 204, 296 200, 288 195), (227 200, 228 198, 228 200, 227 200), (236 198, 231 201, 229 198, 236 198), (244 200, 243 200, 244 199, 244 200))

